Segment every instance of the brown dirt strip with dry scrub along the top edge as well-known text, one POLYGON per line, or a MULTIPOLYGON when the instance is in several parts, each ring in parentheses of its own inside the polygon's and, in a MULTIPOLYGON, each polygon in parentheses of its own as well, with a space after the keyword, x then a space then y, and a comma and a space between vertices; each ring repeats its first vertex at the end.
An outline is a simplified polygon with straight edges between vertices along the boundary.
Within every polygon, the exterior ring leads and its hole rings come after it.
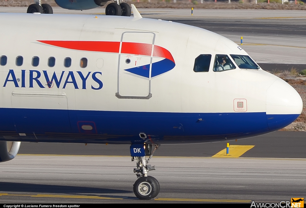
MULTIPOLYGON (((219 1, 219 0, 217 0, 219 1)), ((258 2, 267 1, 267 0, 258 0, 258 2)), ((305 0, 303 0, 305 1, 305 0)), ((111 3, 109 1, 108 3, 111 3)), ((281 0, 270 0, 268 3, 257 3, 255 0, 240 0, 223 2, 214 2, 211 0, 177 0, 174 3, 174 0, 125 0, 125 2, 135 4, 137 8, 195 8, 195 9, 290 9, 290 10, 306 10, 306 3, 300 2, 297 0, 297 5, 294 1, 285 2, 282 5, 281 0), (139 1, 139 2, 138 2, 139 1), (273 2, 273 3, 272 3, 273 2), (278 3, 275 3, 278 2, 278 3)), ((0 6, 29 6, 33 4, 33 0, 0 0, 0 6)), ((42 3, 50 4, 51 6, 57 6, 54 0, 42 0, 42 3)), ((106 4, 107 5, 107 4, 106 4)), ((106 7, 103 6, 103 7, 106 7)))

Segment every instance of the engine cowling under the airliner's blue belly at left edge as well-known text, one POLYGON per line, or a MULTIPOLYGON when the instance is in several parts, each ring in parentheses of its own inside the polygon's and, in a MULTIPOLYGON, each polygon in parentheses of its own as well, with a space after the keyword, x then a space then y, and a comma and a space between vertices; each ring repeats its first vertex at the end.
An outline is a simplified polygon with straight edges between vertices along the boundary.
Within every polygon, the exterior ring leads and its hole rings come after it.
POLYGON ((20 141, 0 141, 0 162, 6 162, 16 157, 20 141))

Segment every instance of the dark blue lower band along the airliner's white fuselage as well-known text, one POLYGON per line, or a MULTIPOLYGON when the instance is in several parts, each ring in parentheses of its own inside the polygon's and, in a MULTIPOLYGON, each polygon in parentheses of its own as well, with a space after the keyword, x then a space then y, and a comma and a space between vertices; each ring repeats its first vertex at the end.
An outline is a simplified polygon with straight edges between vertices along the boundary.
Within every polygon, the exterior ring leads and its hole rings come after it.
MULTIPOLYGON (((100 143, 129 141, 139 133, 159 140, 251 137, 289 125, 299 115, 265 112, 166 113, 0 108, 0 139, 16 133, 100 143), (1 138, 2 137, 2 138, 1 138)), ((20 137, 25 138, 25 137, 20 137)))

